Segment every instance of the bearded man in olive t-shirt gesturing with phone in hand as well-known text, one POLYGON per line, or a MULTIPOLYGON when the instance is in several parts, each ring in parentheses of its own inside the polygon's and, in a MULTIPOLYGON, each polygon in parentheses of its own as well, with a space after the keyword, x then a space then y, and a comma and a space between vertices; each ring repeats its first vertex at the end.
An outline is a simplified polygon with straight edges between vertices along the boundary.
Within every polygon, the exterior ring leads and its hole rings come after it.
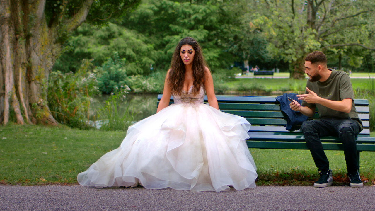
POLYGON ((318 108, 320 119, 306 121, 301 126, 320 178, 314 187, 332 185, 332 170, 324 153, 321 136, 338 136, 344 146, 347 171, 351 187, 362 187, 357 164, 355 137, 362 131, 362 121, 354 106, 353 88, 348 74, 327 68, 327 58, 321 51, 314 51, 305 58, 305 73, 309 76, 305 94, 297 95, 302 105, 291 102, 290 107, 306 116, 313 116, 318 108))

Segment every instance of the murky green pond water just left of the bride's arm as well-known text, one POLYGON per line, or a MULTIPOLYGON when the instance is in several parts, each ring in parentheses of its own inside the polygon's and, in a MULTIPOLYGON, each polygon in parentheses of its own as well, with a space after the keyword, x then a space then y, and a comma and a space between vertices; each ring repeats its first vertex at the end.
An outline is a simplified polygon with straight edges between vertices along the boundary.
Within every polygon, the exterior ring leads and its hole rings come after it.
MULTIPOLYGON (((110 95, 96 96, 90 104, 90 120, 99 120, 98 110, 104 105, 110 95)), ((129 94, 122 104, 118 105, 119 115, 123 115, 129 106, 130 113, 134 113, 134 121, 147 118, 156 113, 157 94, 135 95, 129 94)))

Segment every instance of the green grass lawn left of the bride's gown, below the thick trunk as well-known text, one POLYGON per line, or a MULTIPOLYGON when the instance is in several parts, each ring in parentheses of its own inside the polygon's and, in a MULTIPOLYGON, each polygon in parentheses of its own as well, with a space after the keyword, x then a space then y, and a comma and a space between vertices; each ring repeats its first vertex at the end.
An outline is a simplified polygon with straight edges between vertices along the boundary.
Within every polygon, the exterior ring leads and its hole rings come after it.
POLYGON ((105 152, 117 148, 125 133, 68 127, 0 127, 0 183, 76 184, 105 152))

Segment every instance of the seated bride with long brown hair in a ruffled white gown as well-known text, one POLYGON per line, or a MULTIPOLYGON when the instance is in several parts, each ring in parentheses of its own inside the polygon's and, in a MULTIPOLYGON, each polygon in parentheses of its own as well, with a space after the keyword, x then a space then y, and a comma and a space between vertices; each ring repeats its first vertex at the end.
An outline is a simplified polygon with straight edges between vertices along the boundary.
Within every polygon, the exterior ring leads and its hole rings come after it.
POLYGON ((201 47, 183 38, 172 56, 157 112, 127 130, 120 147, 78 174, 93 187, 222 191, 255 187, 245 140, 250 123, 220 112, 201 47), (203 103, 207 93, 208 104, 203 103), (169 104, 171 95, 174 104, 169 104))

